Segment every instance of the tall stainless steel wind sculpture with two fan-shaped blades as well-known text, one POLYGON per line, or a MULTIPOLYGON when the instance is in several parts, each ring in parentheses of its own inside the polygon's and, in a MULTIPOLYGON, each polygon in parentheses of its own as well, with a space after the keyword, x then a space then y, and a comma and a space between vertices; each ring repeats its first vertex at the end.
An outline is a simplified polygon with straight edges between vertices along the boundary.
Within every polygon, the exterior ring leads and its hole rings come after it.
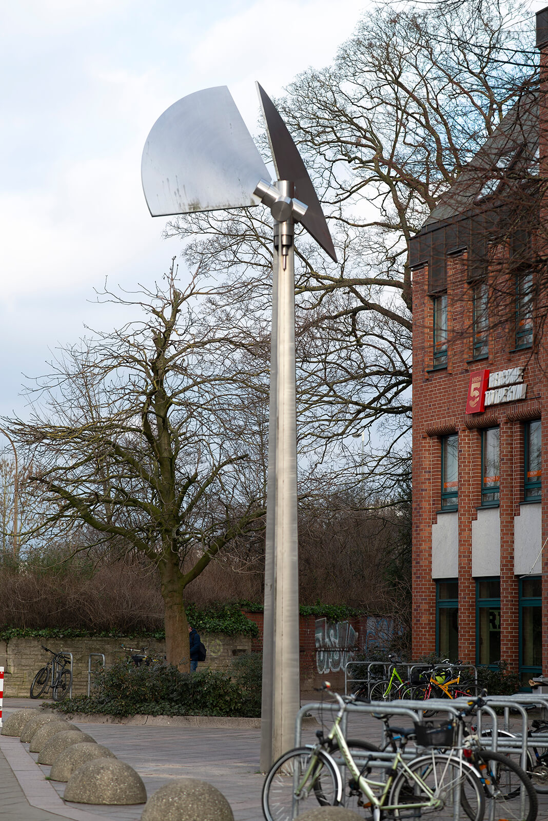
POLYGON ((155 122, 141 175, 153 217, 259 203, 274 218, 261 769, 293 746, 299 710, 294 225, 336 261, 326 218, 295 143, 257 84, 277 180, 226 86, 180 99, 155 122), (297 197, 299 199, 297 199, 297 197))

